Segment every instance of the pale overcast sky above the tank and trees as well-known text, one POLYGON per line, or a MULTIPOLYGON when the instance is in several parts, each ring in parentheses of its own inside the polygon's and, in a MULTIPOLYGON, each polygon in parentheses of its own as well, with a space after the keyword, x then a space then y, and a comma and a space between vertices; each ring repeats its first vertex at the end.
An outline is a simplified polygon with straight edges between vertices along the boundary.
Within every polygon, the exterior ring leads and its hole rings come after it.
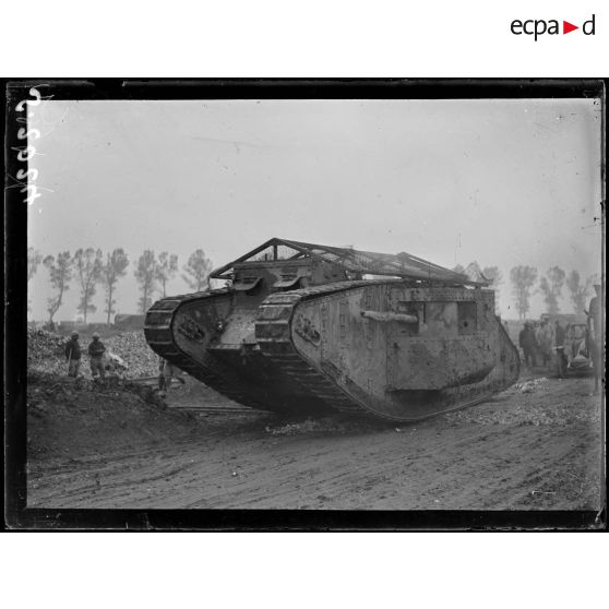
MULTIPOLYGON (((31 167, 41 196, 28 246, 44 255, 123 248, 117 312, 136 312, 135 260, 201 248, 214 266, 271 237, 503 273, 600 273, 600 105, 595 99, 47 100, 31 167), (596 216, 596 219, 595 219, 596 216)), ((48 271, 29 282, 48 318, 48 271)), ((72 282, 56 321, 77 317, 72 282)), ((168 292, 189 288, 178 275, 168 292)), ((105 321, 104 290, 89 321, 105 321)), ((561 310, 572 312, 564 294, 561 310)), ((532 317, 544 311, 541 295, 532 317)))

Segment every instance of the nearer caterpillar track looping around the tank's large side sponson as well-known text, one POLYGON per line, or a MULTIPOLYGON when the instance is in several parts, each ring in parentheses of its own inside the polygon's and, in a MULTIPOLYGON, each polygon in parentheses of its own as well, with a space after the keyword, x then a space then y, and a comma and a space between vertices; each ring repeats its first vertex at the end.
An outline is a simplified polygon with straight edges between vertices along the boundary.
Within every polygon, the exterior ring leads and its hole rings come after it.
MULTIPOLYGON (((386 282, 380 280, 379 283, 386 282)), ((312 362, 308 361, 306 357, 297 353, 290 339, 291 319, 296 307, 300 302, 336 295, 349 289, 369 286, 371 282, 369 280, 343 282, 339 286, 336 284, 326 284, 268 296, 261 308, 276 308, 280 310, 277 310, 276 314, 266 315, 268 320, 256 321, 256 341, 262 351, 267 355, 274 363, 279 366, 286 374, 307 387, 312 395, 322 399, 330 408, 349 415, 374 416, 389 420, 417 421, 438 416, 441 413, 467 408, 488 401, 495 393, 507 389, 518 378, 520 358, 517 350, 512 345, 500 319, 495 317, 502 338, 506 342, 506 345, 513 349, 515 361, 517 362, 516 371, 512 379, 505 381, 504 379, 498 378, 499 374, 497 370, 494 370, 487 379, 479 383, 446 390, 444 392, 444 401, 440 403, 441 406, 439 409, 441 411, 435 410, 433 414, 423 417, 406 419, 402 417, 391 417, 371 410, 356 397, 341 389, 329 375, 324 374, 312 362), (284 326, 283 332, 278 332, 277 326, 284 326), (278 336, 280 336, 280 338, 278 338, 278 336)))

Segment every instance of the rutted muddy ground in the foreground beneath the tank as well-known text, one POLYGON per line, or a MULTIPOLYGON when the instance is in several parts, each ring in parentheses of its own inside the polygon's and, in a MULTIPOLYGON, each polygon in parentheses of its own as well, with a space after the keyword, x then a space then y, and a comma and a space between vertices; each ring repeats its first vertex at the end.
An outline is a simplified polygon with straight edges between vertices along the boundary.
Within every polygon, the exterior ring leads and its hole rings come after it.
MULTIPOLYGON (((201 415, 28 379, 28 506, 598 510, 592 379, 523 379, 416 425, 201 415), (525 384, 523 384, 525 383, 525 384)), ((169 399, 174 405, 192 396, 169 399)), ((230 406, 210 393, 199 403, 230 406)), ((234 405, 234 404, 232 404, 234 405)))

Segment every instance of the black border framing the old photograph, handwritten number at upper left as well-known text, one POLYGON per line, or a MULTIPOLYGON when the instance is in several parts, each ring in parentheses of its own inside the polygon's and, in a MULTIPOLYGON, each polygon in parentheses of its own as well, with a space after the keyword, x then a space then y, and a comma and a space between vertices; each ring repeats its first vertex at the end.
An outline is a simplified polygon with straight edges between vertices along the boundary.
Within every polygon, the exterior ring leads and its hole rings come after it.
MULTIPOLYGON (((3 80, 4 119, 4 527, 11 530, 604 530, 594 511, 82 510, 26 507, 27 204, 16 105, 36 87, 52 99, 475 99, 597 97, 602 108, 605 294, 607 79, 27 79, 3 80)), ((601 433, 605 449, 605 375, 601 433)), ((604 455, 606 458, 606 454, 604 455)), ((601 469, 606 489, 607 463, 601 469)))

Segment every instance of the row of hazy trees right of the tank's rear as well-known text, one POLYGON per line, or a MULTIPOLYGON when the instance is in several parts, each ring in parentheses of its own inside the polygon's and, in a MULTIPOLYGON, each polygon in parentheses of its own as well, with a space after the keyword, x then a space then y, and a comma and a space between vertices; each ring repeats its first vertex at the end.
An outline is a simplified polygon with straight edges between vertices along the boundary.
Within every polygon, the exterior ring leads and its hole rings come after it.
MULTIPOLYGON (((486 266, 481 268, 476 262, 467 267, 455 266, 457 273, 469 274, 468 271, 479 270, 481 274, 492 282, 492 287, 499 290, 503 284, 503 275, 497 266, 486 266)), ((512 284, 512 296, 514 308, 521 320, 525 319, 530 310, 530 298, 534 294, 541 294, 546 303, 546 311, 549 314, 560 313, 560 300, 563 290, 566 288, 569 298, 573 306, 573 312, 582 315, 586 309, 589 296, 594 294, 593 286, 598 282, 596 275, 590 275, 586 279, 577 271, 566 274, 560 266, 552 266, 546 275, 539 275, 535 266, 514 266, 510 271, 510 283, 512 284)))

